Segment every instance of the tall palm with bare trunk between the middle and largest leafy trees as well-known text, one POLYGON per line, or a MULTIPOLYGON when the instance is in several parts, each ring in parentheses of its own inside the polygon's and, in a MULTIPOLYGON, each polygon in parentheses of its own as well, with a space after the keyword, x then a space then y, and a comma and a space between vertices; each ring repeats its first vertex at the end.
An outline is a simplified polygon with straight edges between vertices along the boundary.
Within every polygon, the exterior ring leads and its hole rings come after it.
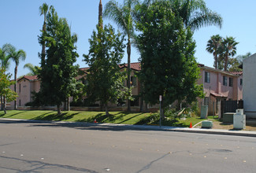
MULTIPOLYGON (((105 6, 103 17, 113 20, 127 35, 128 54, 128 89, 131 88, 131 39, 134 36, 134 20, 132 18, 133 8, 139 2, 137 0, 124 0, 124 5, 120 6, 115 0, 110 0, 105 6)), ((128 111, 131 111, 131 102, 128 100, 128 111)))

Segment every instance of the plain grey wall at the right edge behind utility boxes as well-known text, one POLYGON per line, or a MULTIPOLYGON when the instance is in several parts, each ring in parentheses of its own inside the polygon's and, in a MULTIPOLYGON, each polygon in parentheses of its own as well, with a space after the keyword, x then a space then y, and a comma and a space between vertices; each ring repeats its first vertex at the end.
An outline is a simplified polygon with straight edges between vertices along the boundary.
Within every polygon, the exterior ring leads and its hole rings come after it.
POLYGON ((256 118, 256 53, 243 61, 243 109, 256 118))

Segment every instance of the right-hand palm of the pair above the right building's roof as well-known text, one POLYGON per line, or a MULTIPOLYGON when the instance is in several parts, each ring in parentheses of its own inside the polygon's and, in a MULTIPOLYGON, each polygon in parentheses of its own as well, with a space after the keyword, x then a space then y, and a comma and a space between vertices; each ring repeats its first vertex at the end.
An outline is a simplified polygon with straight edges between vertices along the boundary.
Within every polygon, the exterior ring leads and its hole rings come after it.
POLYGON ((221 56, 224 60, 224 71, 227 71, 228 69, 228 60, 230 57, 233 57, 236 54, 236 45, 239 42, 235 41, 235 38, 233 37, 226 37, 223 39, 223 42, 221 43, 221 56))

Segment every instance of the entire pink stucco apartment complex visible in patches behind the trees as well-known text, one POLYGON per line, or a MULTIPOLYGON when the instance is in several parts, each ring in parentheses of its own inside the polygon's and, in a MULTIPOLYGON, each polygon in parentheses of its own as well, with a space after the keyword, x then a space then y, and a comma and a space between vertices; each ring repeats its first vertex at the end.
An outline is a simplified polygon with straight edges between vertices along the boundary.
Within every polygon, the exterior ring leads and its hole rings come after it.
MULTIPOLYGON (((202 84, 205 93, 205 98, 198 98, 198 105, 208 105, 208 113, 210 115, 219 114, 221 112, 221 100, 241 100, 243 99, 243 72, 224 72, 215 68, 207 67, 203 64, 198 64, 200 68, 200 78, 198 84, 202 84)), ((120 65, 121 71, 127 68, 127 64, 120 65)), ((140 63, 132 63, 132 94, 136 100, 132 101, 132 110, 139 110, 140 86, 139 80, 135 77, 135 72, 140 71, 140 63), (135 109, 136 108, 136 109, 135 109)), ((78 76, 76 79, 81 79, 86 76, 88 68, 80 68, 84 72, 84 75, 78 76)), ((86 77, 85 77, 86 78, 86 77)), ((126 83, 124 83, 126 85, 126 83)), ((13 90, 13 86, 11 86, 13 90)), ((17 83, 17 98, 18 107, 24 106, 26 103, 32 101, 32 91, 38 92, 40 89, 40 82, 37 76, 27 76, 18 79, 17 83)), ((14 108, 14 101, 10 103, 10 108, 14 108)))

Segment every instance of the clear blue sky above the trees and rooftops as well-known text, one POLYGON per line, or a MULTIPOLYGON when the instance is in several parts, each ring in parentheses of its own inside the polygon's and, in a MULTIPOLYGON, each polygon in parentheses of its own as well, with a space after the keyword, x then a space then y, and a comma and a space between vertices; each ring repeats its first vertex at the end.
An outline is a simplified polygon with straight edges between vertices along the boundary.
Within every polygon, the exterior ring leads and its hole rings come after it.
MULTIPOLYGON (((77 53, 80 57, 77 64, 80 67, 87 67, 83 60, 83 53, 88 53, 88 39, 98 23, 98 2, 99 0, 0 0, 0 46, 11 43, 17 49, 27 53, 24 62, 20 62, 18 76, 28 73, 23 66, 26 63, 39 65, 38 53, 41 47, 38 42, 38 35, 43 25, 43 16, 39 15, 39 6, 46 2, 53 5, 59 17, 65 17, 72 27, 72 32, 78 35, 77 53)), ((103 9, 108 0, 102 0, 103 9)), ((122 3, 123 0, 117 0, 122 3)), ((223 27, 215 26, 201 28, 195 31, 196 53, 198 63, 213 66, 213 55, 206 52, 206 44, 212 35, 222 37, 233 36, 239 42, 237 54, 256 52, 256 1, 255 0, 205 0, 206 5, 223 17, 223 27)), ((104 20, 104 24, 113 24, 112 21, 104 20)), ((125 51, 126 52, 126 51, 125 51)), ((138 61, 139 53, 132 49, 132 62, 138 61)), ((122 62, 127 62, 124 55, 122 62)), ((12 62, 9 72, 13 73, 14 63, 12 62)))

